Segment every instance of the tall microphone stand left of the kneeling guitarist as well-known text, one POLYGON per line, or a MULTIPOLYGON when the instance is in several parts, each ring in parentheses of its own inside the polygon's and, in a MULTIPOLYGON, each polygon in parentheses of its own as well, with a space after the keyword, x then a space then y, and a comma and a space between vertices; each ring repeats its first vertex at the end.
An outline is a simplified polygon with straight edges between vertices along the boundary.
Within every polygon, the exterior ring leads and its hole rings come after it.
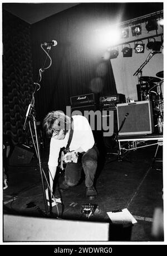
MULTIPOLYGON (((48 52, 51 50, 51 46, 47 46, 47 54, 48 52)), ((40 69, 41 70, 41 73, 43 73, 45 71, 45 64, 46 64, 46 60, 47 60, 47 56, 45 56, 45 59, 43 61, 43 64, 42 64, 42 68, 40 69)), ((26 120, 24 122, 24 126, 23 126, 23 130, 26 130, 26 126, 27 126, 27 122, 30 120, 33 120, 33 126, 34 126, 34 130, 35 130, 35 138, 36 138, 36 145, 37 145, 37 150, 36 150, 36 154, 37 154, 37 158, 38 158, 38 164, 39 164, 39 167, 40 167, 40 174, 41 174, 41 182, 42 182, 42 192, 43 192, 43 200, 44 200, 44 203, 45 203, 45 211, 46 211, 46 215, 49 214, 48 212, 48 205, 47 205, 47 200, 46 200, 46 193, 45 193, 45 187, 44 187, 44 183, 43 183, 43 173, 42 173, 42 161, 41 161, 41 152, 40 152, 40 144, 39 144, 39 141, 38 141, 38 135, 37 135, 37 125, 36 125, 36 111, 35 111, 35 102, 34 102, 34 94, 36 93, 37 90, 37 86, 40 86, 40 82, 41 82, 41 74, 38 75, 38 80, 37 80, 37 83, 34 83, 36 84, 35 86, 35 91, 33 92, 33 96, 32 96, 32 100, 31 100, 31 103, 30 105, 28 106, 28 110, 27 110, 27 113, 26 113, 26 120)))

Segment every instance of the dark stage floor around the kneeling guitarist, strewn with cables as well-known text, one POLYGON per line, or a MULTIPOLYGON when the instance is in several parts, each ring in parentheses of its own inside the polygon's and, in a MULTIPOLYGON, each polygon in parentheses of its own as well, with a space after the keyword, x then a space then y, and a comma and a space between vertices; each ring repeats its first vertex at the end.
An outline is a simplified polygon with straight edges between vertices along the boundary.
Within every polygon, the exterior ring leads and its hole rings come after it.
MULTIPOLYGON (((158 152, 161 158, 162 149, 161 146, 158 152)), ((113 150, 101 149, 96 173, 97 198, 87 200, 83 172, 80 184, 62 193, 62 204, 54 206, 50 216, 56 218, 58 215, 65 220, 108 222, 111 224, 110 241, 163 240, 151 235, 155 209, 163 209, 163 163, 153 162, 155 150, 156 146, 151 146, 130 151, 126 159, 131 162, 119 162, 117 156, 112 154, 113 150), (81 214, 81 207, 89 203, 96 207, 96 211, 88 219, 81 214), (107 212, 123 208, 127 208, 135 217, 136 224, 112 224, 107 212)), ((48 148, 41 150, 42 167, 46 175, 48 151, 48 148)), ((58 183, 62 179, 63 173, 58 174, 55 197, 60 197, 58 183)), ((3 190, 3 214, 48 217, 36 157, 33 157, 30 164, 9 167, 9 186, 3 190)))

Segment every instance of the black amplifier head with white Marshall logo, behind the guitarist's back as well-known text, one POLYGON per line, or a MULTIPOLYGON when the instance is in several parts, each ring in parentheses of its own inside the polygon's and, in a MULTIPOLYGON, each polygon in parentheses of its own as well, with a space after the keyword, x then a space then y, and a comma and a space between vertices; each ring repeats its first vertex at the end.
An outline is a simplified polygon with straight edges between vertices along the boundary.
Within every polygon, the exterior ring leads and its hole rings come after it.
POLYGON ((71 106, 94 104, 95 97, 94 97, 94 93, 82 94, 82 95, 70 97, 70 101, 71 101, 71 106))

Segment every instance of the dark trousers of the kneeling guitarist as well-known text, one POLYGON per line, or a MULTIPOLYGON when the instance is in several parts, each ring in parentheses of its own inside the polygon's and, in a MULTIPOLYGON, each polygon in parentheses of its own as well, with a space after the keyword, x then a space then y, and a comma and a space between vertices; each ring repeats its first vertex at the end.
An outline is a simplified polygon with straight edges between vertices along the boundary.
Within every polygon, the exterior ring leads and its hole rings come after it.
POLYGON ((81 179, 81 170, 85 172, 85 186, 91 187, 94 184, 97 169, 97 158, 99 150, 96 145, 82 154, 80 163, 67 163, 65 170, 65 184, 75 186, 81 179))

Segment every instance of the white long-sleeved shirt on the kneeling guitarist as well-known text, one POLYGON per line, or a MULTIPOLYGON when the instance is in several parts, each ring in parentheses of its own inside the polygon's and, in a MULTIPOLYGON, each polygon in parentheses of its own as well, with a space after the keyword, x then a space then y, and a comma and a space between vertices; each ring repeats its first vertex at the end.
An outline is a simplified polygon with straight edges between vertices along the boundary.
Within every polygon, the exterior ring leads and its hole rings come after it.
MULTIPOLYGON (((70 151, 82 148, 85 152, 95 144, 94 135, 86 117, 76 115, 73 118, 73 136, 70 144, 70 151)), ((67 146, 70 131, 67 132, 63 140, 51 138, 50 156, 48 165, 57 167, 60 149, 67 146)))

